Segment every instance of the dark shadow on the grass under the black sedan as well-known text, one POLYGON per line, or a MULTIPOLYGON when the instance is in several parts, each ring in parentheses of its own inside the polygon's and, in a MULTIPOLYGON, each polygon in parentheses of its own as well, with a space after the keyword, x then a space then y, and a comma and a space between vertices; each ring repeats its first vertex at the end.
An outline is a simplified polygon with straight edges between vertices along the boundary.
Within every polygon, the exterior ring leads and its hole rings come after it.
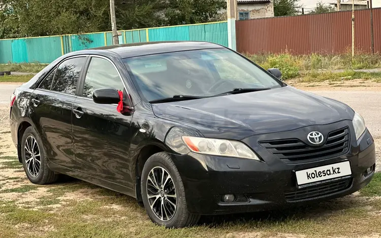
MULTIPOLYGON (((128 195, 124 195, 119 192, 115 192, 106 188, 93 185, 79 179, 70 176, 61 176, 59 181, 55 183, 58 186, 71 186, 79 185, 81 188, 94 189, 97 191, 97 195, 108 197, 124 197, 123 206, 130 207, 136 203, 136 200, 128 195)), ((217 228, 229 224, 245 224, 245 223, 285 223, 287 221, 305 221, 305 220, 322 220, 329 216, 344 214, 347 211, 358 209, 367 206, 366 203, 362 204, 364 199, 358 195, 348 195, 339 199, 329 200, 320 203, 311 203, 309 205, 294 206, 287 208, 279 208, 277 210, 255 212, 255 213, 239 213, 230 215, 214 215, 214 216, 202 216, 198 225, 208 226, 210 228, 217 228), (363 205, 363 206, 362 206, 363 205)), ((146 216, 145 210, 142 209, 142 216, 146 216)), ((147 218, 148 219, 148 218, 147 218)))

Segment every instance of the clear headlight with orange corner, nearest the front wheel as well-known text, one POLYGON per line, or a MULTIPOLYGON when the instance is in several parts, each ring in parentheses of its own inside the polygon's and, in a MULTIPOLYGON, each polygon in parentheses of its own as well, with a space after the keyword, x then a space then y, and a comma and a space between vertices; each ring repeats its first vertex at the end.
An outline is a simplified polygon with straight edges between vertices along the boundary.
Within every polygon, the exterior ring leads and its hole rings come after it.
POLYGON ((182 136, 185 145, 196 153, 260 160, 252 150, 240 141, 182 136))

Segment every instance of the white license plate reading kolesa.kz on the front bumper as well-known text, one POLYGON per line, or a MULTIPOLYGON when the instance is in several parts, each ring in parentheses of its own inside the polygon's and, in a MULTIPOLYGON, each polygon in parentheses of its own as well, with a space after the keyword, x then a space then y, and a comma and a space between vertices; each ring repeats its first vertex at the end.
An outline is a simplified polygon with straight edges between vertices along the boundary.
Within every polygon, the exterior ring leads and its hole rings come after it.
POLYGON ((325 165, 295 172, 299 188, 351 177, 349 161, 325 165))

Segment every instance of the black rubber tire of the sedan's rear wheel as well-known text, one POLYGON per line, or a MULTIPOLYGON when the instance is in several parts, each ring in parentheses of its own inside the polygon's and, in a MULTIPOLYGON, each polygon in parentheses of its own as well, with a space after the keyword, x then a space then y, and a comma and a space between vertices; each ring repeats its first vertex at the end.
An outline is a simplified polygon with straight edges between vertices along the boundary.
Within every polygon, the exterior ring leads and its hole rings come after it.
POLYGON ((43 143, 37 131, 33 127, 28 127, 22 136, 21 158, 22 158, 22 165, 24 166, 26 177, 28 177, 30 182, 35 184, 49 184, 49 183, 54 183, 55 181, 57 181, 59 175, 55 174, 53 171, 49 169, 48 163, 47 163, 47 157, 45 156, 43 143), (26 143, 27 140, 28 142, 26 143), (33 145, 29 145, 32 143, 33 145), (36 145, 38 147, 36 147, 36 145), (25 149, 25 146, 28 146, 29 151, 30 151, 30 148, 33 148, 33 151, 31 152, 35 154, 36 156, 31 156, 28 150, 25 149), (36 148, 38 150, 36 150, 36 148), (38 152, 39 152, 39 156, 38 156, 38 152), (38 163, 39 158, 40 158, 40 163, 38 163), (33 163, 35 163, 35 165, 33 163), (37 173, 37 170, 38 170, 38 173, 37 173))

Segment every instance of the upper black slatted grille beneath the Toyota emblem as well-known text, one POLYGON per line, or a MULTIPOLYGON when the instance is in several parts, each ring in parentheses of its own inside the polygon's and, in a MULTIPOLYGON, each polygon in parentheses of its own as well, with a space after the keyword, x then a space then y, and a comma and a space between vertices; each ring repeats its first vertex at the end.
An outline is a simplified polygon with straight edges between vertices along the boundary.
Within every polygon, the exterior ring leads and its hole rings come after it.
POLYGON ((283 139, 260 142, 281 160, 300 161, 315 158, 340 156, 347 152, 350 145, 348 127, 330 132, 327 141, 319 147, 311 147, 298 139, 283 139))

